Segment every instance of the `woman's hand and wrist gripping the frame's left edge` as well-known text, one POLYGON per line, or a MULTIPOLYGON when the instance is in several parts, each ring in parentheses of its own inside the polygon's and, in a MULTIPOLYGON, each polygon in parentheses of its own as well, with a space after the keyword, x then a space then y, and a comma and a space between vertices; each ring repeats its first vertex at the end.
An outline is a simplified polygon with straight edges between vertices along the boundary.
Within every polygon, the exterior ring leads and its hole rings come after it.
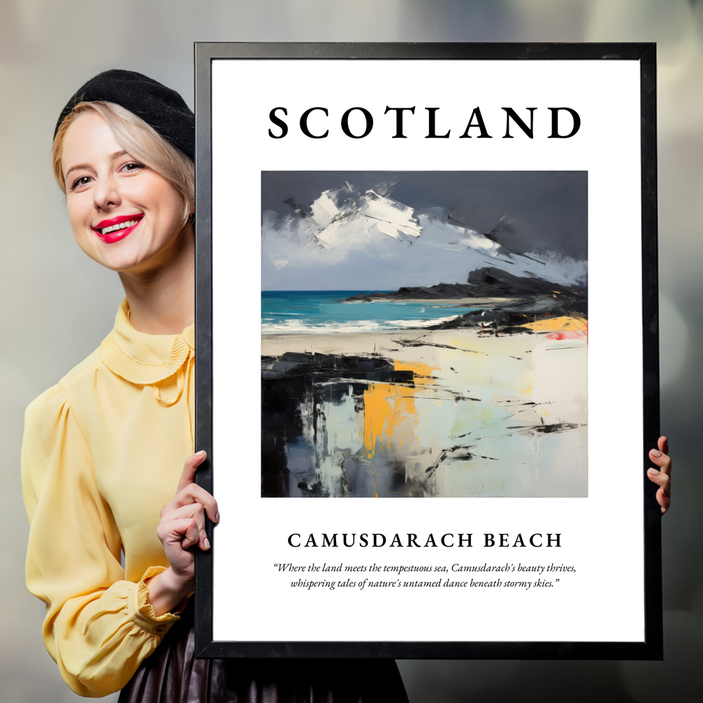
POLYGON ((195 483, 195 472, 205 461, 206 453, 191 454, 183 465, 176 496, 161 509, 156 528, 170 567, 148 579, 148 602, 157 615, 169 612, 195 587, 196 544, 204 551, 210 548, 205 533, 205 513, 212 522, 219 522, 217 501, 195 483))

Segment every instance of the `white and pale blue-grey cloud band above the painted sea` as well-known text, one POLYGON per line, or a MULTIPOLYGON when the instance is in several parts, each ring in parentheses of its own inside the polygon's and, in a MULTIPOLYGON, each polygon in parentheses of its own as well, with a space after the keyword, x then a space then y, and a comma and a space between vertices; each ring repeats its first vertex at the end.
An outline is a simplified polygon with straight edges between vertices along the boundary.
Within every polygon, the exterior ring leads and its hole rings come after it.
POLYGON ((272 290, 396 290, 404 285, 464 283, 470 271, 496 266, 561 285, 586 280, 586 262, 557 252, 512 252, 453 224, 441 208, 413 210, 380 184, 323 191, 309 209, 264 212, 262 282, 272 290), (379 192, 380 191, 380 192, 379 192))

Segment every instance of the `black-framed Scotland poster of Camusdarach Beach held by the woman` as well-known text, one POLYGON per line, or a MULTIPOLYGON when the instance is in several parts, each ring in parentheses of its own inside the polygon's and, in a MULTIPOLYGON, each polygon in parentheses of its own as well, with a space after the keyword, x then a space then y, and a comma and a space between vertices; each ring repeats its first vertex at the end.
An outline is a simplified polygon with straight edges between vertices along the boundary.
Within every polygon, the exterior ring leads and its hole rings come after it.
POLYGON ((203 657, 662 656, 651 44, 196 44, 203 657))

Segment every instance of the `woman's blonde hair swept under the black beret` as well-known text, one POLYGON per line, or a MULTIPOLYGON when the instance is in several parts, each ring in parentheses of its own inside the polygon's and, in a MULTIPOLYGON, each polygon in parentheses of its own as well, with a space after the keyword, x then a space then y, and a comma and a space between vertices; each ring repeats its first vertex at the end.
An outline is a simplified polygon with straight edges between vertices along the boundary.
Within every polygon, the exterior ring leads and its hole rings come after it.
POLYGON ((116 103, 78 103, 61 122, 51 149, 51 166, 58 187, 66 193, 61 169, 63 139, 70 125, 82 113, 92 110, 103 117, 117 143, 136 160, 163 176, 183 198, 183 225, 195 207, 195 165, 193 160, 163 138, 141 117, 116 103))

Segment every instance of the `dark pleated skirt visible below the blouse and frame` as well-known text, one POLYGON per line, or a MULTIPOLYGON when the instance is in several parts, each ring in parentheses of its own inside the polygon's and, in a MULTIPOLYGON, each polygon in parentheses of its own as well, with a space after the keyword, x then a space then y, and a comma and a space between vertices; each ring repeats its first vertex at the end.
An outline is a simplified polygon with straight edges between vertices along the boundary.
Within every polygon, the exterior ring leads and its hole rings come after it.
POLYGON ((191 611, 118 703, 408 703, 393 659, 195 659, 191 611))

